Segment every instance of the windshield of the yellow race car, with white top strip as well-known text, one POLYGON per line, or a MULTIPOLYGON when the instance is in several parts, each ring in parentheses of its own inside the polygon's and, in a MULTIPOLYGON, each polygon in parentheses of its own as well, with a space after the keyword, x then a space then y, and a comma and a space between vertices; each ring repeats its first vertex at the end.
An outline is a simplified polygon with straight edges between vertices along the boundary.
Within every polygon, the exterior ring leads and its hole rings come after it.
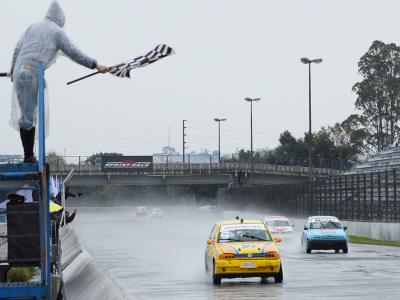
POLYGON ((263 224, 222 225, 218 242, 272 241, 263 224))

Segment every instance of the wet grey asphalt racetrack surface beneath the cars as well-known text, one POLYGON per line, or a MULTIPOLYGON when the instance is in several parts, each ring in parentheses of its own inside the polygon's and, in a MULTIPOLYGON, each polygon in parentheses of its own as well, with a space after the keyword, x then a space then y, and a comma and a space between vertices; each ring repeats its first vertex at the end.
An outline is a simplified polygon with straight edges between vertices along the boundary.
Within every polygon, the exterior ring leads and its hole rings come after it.
POLYGON ((153 220, 136 218, 135 207, 79 208, 73 228, 127 299, 400 299, 399 248, 350 244, 348 254, 306 254, 300 232, 280 244, 282 284, 248 278, 213 286, 204 272, 204 245, 213 222, 234 214, 164 211, 164 219, 153 220))

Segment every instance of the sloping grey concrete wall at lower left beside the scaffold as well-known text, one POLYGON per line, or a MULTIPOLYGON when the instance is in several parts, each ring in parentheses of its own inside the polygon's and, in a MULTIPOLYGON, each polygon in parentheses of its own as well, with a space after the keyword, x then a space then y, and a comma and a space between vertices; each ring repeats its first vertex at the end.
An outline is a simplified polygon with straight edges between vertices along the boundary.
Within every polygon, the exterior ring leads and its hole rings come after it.
POLYGON ((63 227, 60 237, 64 299, 126 299, 112 279, 85 251, 71 227, 63 227))

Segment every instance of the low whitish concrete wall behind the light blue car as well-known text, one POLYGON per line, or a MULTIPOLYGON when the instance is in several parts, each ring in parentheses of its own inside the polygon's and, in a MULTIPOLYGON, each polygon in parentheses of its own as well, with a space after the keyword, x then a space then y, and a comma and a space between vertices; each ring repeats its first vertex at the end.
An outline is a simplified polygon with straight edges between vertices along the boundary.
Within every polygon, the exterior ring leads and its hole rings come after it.
MULTIPOLYGON (((303 228, 304 219, 291 219, 295 227, 303 228)), ((347 234, 383 241, 400 241, 400 223, 369 223, 341 221, 347 234)))

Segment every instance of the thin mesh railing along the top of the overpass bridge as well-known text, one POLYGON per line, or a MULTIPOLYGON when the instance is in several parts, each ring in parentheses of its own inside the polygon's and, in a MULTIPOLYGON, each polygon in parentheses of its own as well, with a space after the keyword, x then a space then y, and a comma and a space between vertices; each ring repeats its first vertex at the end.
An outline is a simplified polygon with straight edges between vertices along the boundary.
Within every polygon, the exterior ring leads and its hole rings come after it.
MULTIPOLYGON (((207 156, 206 156, 207 157, 207 156)), ((211 156, 210 156, 211 157, 211 156)), ((102 170, 99 163, 93 163, 84 156, 68 157, 49 157, 47 159, 50 165, 50 172, 55 174, 69 173, 75 169, 76 174, 100 174, 107 173, 102 170)), ((340 174, 340 170, 327 168, 313 168, 313 175, 316 177, 332 176, 340 174)), ((215 162, 212 158, 205 160, 205 157, 196 157, 182 163, 171 159, 170 157, 154 157, 153 168, 151 171, 143 172, 138 170, 133 173, 165 175, 165 174, 221 174, 221 173, 250 173, 251 164, 248 162, 215 162), (194 162, 197 161, 197 162, 194 162)), ((309 168, 302 166, 286 166, 277 164, 255 164, 253 173, 308 176, 309 168)), ((116 172, 112 172, 116 173, 116 172)), ((118 173, 121 174, 121 173, 118 173)))

